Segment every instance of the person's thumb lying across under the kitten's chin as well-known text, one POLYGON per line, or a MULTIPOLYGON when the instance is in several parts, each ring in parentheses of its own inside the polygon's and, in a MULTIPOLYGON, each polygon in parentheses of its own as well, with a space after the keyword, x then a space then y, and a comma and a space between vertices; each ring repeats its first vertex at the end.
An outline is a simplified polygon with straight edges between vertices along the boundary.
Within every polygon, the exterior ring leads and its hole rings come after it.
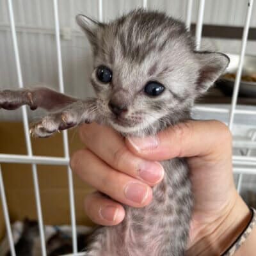
POLYGON ((134 154, 157 161, 173 157, 213 157, 214 154, 221 157, 223 150, 231 152, 232 148, 228 127, 216 120, 190 120, 161 131, 157 136, 127 138, 126 144, 134 154))

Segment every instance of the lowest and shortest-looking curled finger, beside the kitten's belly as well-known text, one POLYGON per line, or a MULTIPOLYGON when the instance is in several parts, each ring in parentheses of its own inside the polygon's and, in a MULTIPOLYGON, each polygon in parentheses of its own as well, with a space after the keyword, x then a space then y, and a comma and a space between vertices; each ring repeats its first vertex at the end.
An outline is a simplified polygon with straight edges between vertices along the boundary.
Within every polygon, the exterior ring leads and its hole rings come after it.
POLYGON ((104 226, 117 225, 125 216, 122 205, 99 192, 86 196, 84 209, 93 222, 104 226))

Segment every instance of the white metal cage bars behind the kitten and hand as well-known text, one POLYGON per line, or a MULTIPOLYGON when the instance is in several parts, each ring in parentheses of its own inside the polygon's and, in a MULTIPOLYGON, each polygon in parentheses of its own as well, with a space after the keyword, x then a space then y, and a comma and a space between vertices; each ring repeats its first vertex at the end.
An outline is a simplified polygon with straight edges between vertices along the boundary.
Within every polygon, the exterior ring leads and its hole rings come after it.
MULTIPOLYGON (((19 88, 23 88, 22 81, 22 72, 20 68, 20 56, 19 56, 19 48, 17 44, 17 35, 15 31, 15 20, 13 15, 13 6, 12 0, 6 0, 8 3, 8 10, 10 15, 10 27, 12 32, 12 40, 13 40, 13 52, 15 54, 15 64, 17 77, 19 82, 19 88)), ((103 21, 103 1, 98 0, 98 19, 100 22, 103 21)), ((207 1, 206 1, 207 3, 207 1)), ((58 17, 58 0, 52 0, 53 8, 54 8, 54 24, 55 24, 55 36, 56 36, 56 51, 58 58, 58 80, 59 80, 59 88, 60 92, 64 92, 64 81, 63 81, 63 68, 62 68, 62 60, 61 60, 61 42, 60 42, 60 24, 58 17)), ((246 42, 248 39, 248 31, 250 28, 250 19, 252 16, 252 8, 253 8, 253 0, 244 1, 244 4, 247 4, 248 8, 246 11, 246 20, 244 24, 243 37, 242 37, 242 45, 240 52, 240 60, 239 60, 239 68, 236 74, 236 82, 234 86, 234 93, 232 95, 232 104, 230 104, 230 108, 216 108, 216 107, 208 107, 208 106, 200 106, 197 105, 195 107, 196 111, 203 111, 207 113, 222 113, 229 116, 228 126, 230 130, 232 130, 232 126, 234 124, 234 116, 235 115, 256 115, 256 111, 250 109, 236 108, 237 104, 237 95, 239 91, 239 83, 241 81, 241 71, 243 68, 243 60, 246 49, 246 42)), ((143 8, 147 8, 147 0, 142 1, 143 8)), ((190 29, 191 25, 191 13, 192 13, 193 0, 187 0, 186 7, 186 28, 190 29)), ((202 40, 202 28, 203 28, 203 20, 204 20, 204 9, 205 9, 205 0, 200 0, 198 5, 198 19, 196 22, 196 50, 200 49, 201 40, 202 40)), ((69 150, 68 150, 68 136, 67 131, 63 132, 63 147, 64 147, 64 157, 48 157, 48 156, 33 156, 31 141, 29 138, 29 125, 28 125, 28 113, 25 107, 22 107, 22 120, 24 124, 24 135, 26 138, 26 147, 27 147, 27 155, 15 155, 15 154, 0 154, 0 163, 29 163, 32 166, 33 173, 33 183, 35 187, 35 198, 36 198, 36 211, 38 214, 38 223, 40 228, 40 241, 42 246, 42 255, 46 256, 46 248, 45 248, 45 236, 44 236, 44 223, 42 218, 42 209, 40 204, 40 193, 38 186, 38 177, 36 172, 36 164, 52 164, 52 165, 63 165, 67 166, 67 175, 68 175, 68 191, 69 191, 69 200, 70 200, 70 217, 72 224, 72 245, 73 245, 73 254, 72 255, 83 255, 83 253, 77 253, 77 234, 76 234, 76 215, 75 215, 75 205, 74 205, 74 186, 72 179, 72 172, 68 166, 69 164, 69 150)), ((254 134, 255 135, 255 134, 254 134)), ((237 184, 237 189, 240 191, 241 184, 243 180, 243 174, 254 174, 256 175, 256 157, 250 156, 250 149, 256 148, 256 143, 254 141, 255 136, 252 136, 252 141, 234 141, 235 147, 244 147, 248 148, 245 156, 233 156, 233 170, 234 173, 239 173, 239 180, 237 184)), ((1 202, 3 205, 4 212, 4 221, 6 223, 6 231, 10 243, 10 251, 12 256, 15 256, 15 249, 13 244, 12 230, 10 224, 10 218, 8 214, 8 205, 6 202, 6 196, 4 191, 4 182, 1 172, 0 165, 0 196, 1 202)))

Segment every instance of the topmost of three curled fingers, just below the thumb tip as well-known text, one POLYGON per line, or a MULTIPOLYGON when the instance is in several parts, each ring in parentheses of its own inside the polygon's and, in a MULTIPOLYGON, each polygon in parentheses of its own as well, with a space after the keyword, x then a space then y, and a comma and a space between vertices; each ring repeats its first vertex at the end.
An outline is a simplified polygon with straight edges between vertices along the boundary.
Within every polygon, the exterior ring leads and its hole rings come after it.
POLYGON ((136 179, 147 182, 150 186, 163 179, 164 170, 160 163, 146 161, 132 154, 120 134, 106 125, 81 125, 80 138, 86 148, 109 164, 114 169, 136 179))

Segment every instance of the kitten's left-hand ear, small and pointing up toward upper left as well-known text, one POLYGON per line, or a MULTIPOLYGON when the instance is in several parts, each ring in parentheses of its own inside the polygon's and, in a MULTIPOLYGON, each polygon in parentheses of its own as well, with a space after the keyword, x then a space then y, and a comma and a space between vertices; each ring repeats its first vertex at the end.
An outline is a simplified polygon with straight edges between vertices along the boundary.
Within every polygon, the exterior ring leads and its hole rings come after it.
POLYGON ((100 27, 103 27, 104 24, 100 23, 97 20, 89 18, 83 14, 79 14, 76 16, 76 22, 86 33, 90 43, 92 45, 95 45, 97 41, 97 38, 96 38, 97 29, 99 29, 100 27))

